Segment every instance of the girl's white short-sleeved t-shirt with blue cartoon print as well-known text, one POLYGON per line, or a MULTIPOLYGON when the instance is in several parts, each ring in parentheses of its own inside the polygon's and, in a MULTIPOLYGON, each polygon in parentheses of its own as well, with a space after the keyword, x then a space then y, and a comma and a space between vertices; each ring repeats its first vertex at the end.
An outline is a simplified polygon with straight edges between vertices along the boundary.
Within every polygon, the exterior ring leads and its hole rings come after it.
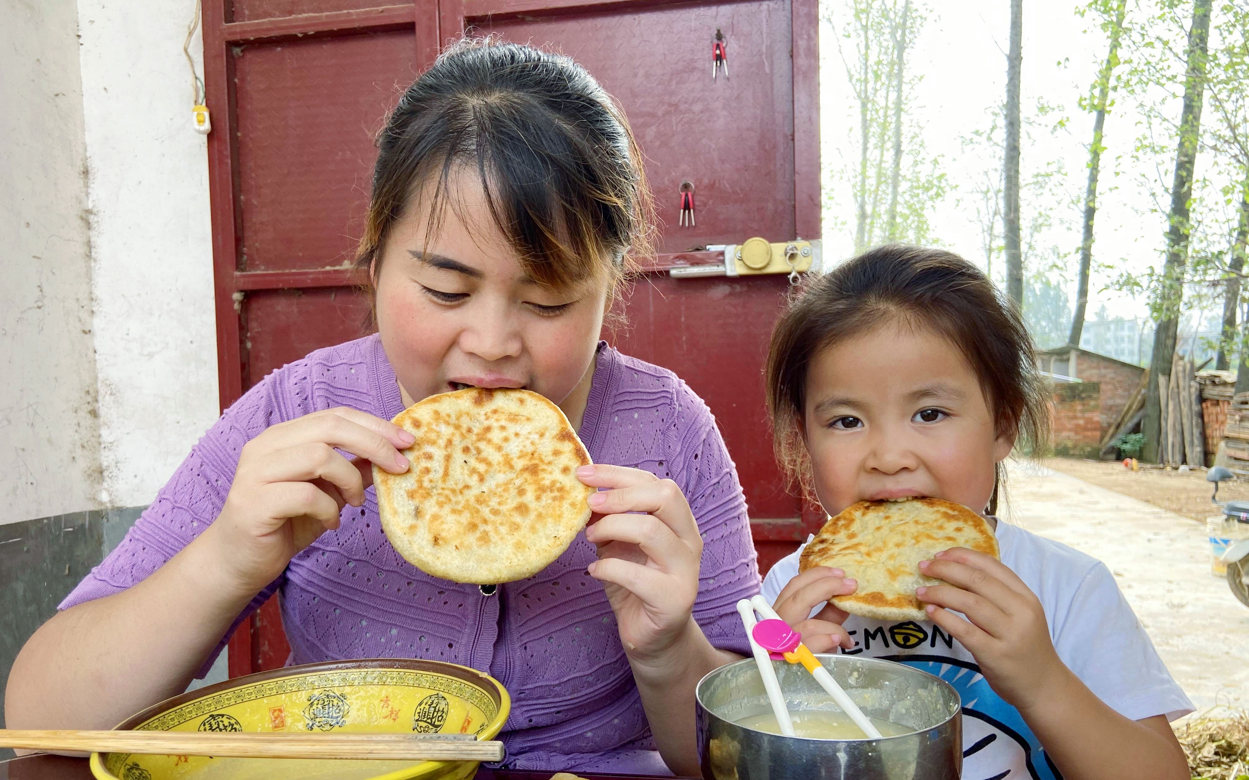
MULTIPOLYGON (((1002 563, 1040 599, 1058 656, 1089 690, 1133 720, 1153 715, 1174 720, 1193 711, 1105 564, 1000 520, 997 537, 1002 563)), ((801 553, 798 548, 768 572, 763 580, 768 602, 774 603, 798 575, 801 553)), ((851 615, 846 629, 854 640, 847 655, 902 661, 958 690, 965 780, 1060 778, 1019 713, 989 688, 972 654, 931 620, 891 623, 851 615)))

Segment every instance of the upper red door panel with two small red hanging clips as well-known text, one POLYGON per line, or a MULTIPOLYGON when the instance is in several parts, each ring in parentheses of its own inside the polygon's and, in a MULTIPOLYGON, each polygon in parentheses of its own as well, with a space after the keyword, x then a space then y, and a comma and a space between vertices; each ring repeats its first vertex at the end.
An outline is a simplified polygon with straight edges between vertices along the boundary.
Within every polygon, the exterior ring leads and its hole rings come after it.
MULTIPOLYGON (((749 236, 794 237, 793 94, 784 0, 729 5, 616 5, 532 20, 471 20, 475 32, 573 57, 620 101, 646 156, 663 223, 658 251, 749 236), (716 29, 731 77, 711 77, 716 29), (682 181, 694 185, 694 227, 678 227, 682 181)), ((808 236, 816 237, 816 236, 808 236)))

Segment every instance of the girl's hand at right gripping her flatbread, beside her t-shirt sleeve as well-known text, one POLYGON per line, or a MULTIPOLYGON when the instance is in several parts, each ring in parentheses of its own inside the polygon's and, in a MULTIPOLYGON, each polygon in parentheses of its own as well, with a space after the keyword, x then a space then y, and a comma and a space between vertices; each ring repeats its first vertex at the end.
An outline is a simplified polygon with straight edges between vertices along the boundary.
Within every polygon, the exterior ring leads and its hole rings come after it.
POLYGON ((919 570, 948 584, 918 588, 916 595, 928 603, 928 618, 975 658, 993 690, 1019 710, 1060 690, 1070 673, 1028 585, 984 553, 955 547, 933 558, 921 560, 919 570))

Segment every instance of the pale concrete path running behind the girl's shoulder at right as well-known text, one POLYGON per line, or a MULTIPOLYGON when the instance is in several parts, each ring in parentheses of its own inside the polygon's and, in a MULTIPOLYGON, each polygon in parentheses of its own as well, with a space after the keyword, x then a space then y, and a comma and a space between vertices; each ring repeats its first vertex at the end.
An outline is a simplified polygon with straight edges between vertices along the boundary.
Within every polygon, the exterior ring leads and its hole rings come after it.
POLYGON ((1029 464, 1000 514, 1105 562, 1194 705, 1249 706, 1249 608, 1210 574, 1203 524, 1029 464))

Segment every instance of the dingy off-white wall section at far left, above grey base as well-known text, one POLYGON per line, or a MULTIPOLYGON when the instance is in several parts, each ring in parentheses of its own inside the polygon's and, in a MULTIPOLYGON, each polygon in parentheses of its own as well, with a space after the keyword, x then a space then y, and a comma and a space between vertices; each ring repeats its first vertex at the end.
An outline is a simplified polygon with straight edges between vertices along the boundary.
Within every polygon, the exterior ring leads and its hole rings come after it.
POLYGON ((0 524, 100 489, 76 17, 0 0, 0 524))

